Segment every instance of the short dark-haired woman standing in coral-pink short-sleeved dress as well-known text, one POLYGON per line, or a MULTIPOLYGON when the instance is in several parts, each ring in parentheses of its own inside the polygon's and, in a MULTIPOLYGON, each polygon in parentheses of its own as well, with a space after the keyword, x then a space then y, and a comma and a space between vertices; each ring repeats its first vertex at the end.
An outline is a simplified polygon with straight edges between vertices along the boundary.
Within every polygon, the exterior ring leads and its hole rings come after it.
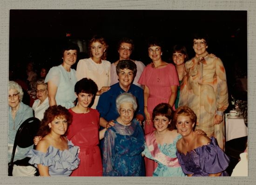
MULTIPOLYGON (((152 112, 160 103, 168 103, 174 108, 179 78, 175 66, 162 60, 162 44, 158 40, 148 42, 148 55, 152 63, 145 67, 138 83, 144 89, 144 112, 146 116, 145 134, 155 130, 152 112)), ((152 176, 157 164, 145 158, 146 176, 152 176)))

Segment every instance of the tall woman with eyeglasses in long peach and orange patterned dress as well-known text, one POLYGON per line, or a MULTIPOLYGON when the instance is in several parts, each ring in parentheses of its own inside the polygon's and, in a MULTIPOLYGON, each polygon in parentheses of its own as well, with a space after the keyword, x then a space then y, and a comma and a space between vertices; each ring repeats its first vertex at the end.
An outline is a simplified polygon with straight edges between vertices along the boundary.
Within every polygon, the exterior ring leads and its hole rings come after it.
POLYGON ((179 106, 189 106, 198 118, 196 129, 215 137, 223 149, 223 112, 229 106, 225 68, 221 59, 207 52, 206 34, 194 35, 193 48, 195 57, 185 64, 179 106))

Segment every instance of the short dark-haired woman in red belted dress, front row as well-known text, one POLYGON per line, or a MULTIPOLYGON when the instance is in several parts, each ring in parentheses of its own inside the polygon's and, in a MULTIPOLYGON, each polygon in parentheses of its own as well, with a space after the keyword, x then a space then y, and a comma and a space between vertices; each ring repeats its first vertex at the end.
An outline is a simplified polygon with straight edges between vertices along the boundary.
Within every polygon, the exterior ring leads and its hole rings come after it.
POLYGON ((67 139, 79 146, 80 165, 71 176, 102 176, 102 161, 99 139, 104 137, 106 128, 99 132, 100 113, 88 106, 97 93, 97 85, 92 79, 83 78, 74 86, 77 105, 68 111, 73 122, 67 131, 67 139))

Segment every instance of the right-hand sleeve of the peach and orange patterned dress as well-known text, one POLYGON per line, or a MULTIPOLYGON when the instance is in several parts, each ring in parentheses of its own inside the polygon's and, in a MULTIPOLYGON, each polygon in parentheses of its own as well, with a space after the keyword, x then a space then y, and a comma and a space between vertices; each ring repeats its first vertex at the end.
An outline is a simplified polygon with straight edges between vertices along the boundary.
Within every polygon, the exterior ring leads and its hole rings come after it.
POLYGON ((216 58, 217 111, 224 112, 229 106, 226 72, 221 59, 216 58))

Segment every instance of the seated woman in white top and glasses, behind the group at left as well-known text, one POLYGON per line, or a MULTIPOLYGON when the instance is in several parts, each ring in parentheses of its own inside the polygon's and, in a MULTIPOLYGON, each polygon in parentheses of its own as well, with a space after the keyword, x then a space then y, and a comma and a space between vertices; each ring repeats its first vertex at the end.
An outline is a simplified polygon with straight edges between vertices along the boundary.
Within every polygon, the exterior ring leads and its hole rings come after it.
POLYGON ((47 83, 43 79, 36 81, 36 99, 32 106, 34 110, 34 117, 40 120, 44 117, 45 110, 49 107, 47 83))

